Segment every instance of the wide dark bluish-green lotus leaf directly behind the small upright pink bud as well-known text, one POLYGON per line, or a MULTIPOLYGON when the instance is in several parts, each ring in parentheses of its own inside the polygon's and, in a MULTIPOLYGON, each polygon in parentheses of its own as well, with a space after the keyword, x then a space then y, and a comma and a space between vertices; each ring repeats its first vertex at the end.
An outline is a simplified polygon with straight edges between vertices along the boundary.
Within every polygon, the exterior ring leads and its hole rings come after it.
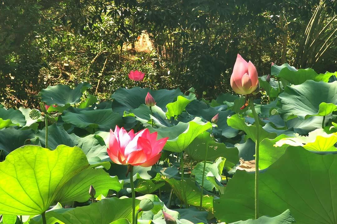
POLYGON ((119 88, 111 95, 111 98, 114 99, 112 108, 123 115, 124 111, 129 111, 130 109, 138 108, 141 104, 145 104, 145 97, 148 92, 155 99, 156 105, 163 111, 166 111, 168 103, 175 101, 178 96, 183 95, 179 88, 173 90, 151 90, 137 86, 132 89, 119 88))

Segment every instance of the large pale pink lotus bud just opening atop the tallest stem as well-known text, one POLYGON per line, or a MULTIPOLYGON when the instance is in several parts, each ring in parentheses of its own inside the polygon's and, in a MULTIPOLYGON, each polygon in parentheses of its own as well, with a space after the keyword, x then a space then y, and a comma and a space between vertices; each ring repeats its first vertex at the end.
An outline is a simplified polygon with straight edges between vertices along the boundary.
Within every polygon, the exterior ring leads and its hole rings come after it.
POLYGON ((231 86, 234 92, 241 95, 251 94, 258 86, 255 66, 251 61, 245 61, 240 54, 238 54, 234 64, 231 86))

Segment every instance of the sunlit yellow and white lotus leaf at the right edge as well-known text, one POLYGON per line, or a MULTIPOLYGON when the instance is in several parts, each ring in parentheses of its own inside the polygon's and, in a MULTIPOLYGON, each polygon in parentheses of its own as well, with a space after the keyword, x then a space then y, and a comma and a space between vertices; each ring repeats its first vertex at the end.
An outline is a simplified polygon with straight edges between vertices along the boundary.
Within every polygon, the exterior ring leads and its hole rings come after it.
POLYGON ((337 142, 337 132, 327 134, 324 129, 316 129, 309 132, 308 136, 286 137, 275 142, 275 147, 283 146, 284 144, 292 146, 303 146, 311 151, 336 151, 334 146, 337 142))

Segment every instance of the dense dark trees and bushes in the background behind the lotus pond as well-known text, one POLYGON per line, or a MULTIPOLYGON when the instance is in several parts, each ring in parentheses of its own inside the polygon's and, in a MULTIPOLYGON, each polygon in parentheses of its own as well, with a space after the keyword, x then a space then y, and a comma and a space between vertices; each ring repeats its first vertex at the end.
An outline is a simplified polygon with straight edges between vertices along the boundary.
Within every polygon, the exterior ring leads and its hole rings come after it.
POLYGON ((271 61, 336 71, 336 8, 330 0, 4 0, 0 101, 36 106, 40 89, 83 81, 108 99, 133 86, 125 75, 135 69, 151 89, 193 84, 198 96, 216 96, 230 90, 238 52, 260 75, 271 61), (150 45, 137 41, 142 33, 150 45))

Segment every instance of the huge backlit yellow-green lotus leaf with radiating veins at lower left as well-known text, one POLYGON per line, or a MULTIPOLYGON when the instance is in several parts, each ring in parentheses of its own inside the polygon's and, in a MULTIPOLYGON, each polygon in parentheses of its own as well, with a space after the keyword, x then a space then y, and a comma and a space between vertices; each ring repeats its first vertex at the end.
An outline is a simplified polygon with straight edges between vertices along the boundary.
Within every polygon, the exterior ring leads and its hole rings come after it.
POLYGON ((96 185, 98 193, 121 188, 116 178, 89 168, 78 147, 59 145, 51 151, 27 145, 12 151, 0 163, 0 213, 38 215, 56 201, 83 202, 90 197, 90 184, 96 185))

